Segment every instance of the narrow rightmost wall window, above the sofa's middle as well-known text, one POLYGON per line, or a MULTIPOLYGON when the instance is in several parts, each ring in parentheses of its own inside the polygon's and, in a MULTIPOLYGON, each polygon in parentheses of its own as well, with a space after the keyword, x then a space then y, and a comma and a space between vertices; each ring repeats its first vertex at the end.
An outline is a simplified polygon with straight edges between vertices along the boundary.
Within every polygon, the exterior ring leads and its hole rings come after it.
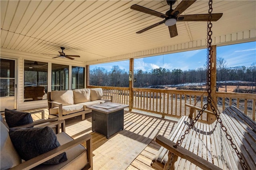
POLYGON ((84 88, 84 67, 72 66, 72 90, 84 88))

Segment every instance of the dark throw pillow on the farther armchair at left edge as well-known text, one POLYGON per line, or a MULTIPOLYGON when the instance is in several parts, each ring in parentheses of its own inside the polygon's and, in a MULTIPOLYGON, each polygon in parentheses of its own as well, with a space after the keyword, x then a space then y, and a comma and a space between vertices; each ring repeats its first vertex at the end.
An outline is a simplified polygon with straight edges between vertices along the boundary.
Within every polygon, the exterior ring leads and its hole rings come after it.
POLYGON ((26 125, 28 123, 33 123, 33 119, 30 113, 26 113, 26 112, 19 112, 19 111, 5 109, 4 116, 5 116, 6 123, 10 128, 26 125))

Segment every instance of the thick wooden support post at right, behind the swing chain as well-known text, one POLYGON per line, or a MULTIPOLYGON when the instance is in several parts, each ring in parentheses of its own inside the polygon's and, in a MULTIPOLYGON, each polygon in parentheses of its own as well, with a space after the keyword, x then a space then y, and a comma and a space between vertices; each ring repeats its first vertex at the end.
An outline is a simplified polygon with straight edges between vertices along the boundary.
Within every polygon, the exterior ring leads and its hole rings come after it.
MULTIPOLYGON (((211 69, 211 96, 212 96, 212 99, 213 99, 212 105, 214 105, 214 103, 216 103, 216 105, 217 105, 217 98, 216 98, 216 80, 217 80, 216 79, 216 73, 217 73, 217 70, 216 70, 216 62, 217 62, 217 59, 216 59, 216 45, 212 45, 211 53, 212 53, 212 57, 211 57, 210 62, 212 63, 212 65, 211 65, 210 69, 211 69)), ((209 105, 208 105, 208 111, 212 111, 212 109, 209 105)), ((215 115, 208 114, 208 123, 209 124, 212 124, 215 120, 216 120, 215 115)))

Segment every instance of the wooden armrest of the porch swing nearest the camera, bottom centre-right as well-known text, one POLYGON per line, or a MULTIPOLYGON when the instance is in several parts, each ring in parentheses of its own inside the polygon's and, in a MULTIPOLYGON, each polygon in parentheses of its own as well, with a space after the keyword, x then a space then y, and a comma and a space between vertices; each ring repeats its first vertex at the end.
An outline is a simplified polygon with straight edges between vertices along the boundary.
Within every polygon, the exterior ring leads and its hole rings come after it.
POLYGON ((184 158, 196 166, 206 169, 206 170, 221 170, 218 166, 208 162, 207 160, 201 158, 200 156, 197 156, 193 152, 190 152, 189 150, 186 150, 185 148, 178 146, 177 148, 174 148, 174 145, 176 143, 172 142, 171 140, 165 138, 164 136, 158 135, 156 136, 156 142, 163 146, 164 148, 170 150, 170 152, 174 153, 177 156, 180 156, 181 158, 184 158))

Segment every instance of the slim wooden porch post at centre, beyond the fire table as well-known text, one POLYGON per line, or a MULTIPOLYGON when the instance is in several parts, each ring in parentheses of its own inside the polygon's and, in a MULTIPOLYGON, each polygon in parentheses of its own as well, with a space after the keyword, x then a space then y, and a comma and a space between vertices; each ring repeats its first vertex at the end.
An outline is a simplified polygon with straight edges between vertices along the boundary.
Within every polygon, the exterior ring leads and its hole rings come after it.
POLYGON ((133 106, 133 69, 134 69, 134 59, 130 58, 130 69, 129 69, 129 111, 132 110, 132 106, 133 106))

